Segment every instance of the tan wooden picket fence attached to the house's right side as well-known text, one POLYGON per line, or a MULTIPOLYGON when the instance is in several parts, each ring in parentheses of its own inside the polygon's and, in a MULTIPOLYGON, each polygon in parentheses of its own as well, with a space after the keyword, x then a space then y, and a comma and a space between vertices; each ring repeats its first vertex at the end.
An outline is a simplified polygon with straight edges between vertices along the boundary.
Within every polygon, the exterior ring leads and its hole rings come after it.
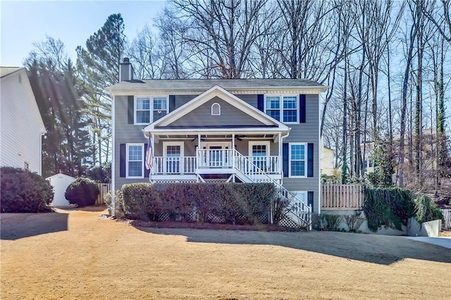
POLYGON ((321 185, 321 209, 357 210, 364 204, 362 185, 321 185))

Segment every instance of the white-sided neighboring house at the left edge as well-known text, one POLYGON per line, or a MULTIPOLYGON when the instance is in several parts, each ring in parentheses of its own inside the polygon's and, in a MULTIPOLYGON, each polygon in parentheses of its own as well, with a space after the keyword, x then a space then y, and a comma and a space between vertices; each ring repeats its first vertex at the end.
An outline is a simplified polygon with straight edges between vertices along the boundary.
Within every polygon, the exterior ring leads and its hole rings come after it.
POLYGON ((25 68, 0 67, 0 165, 41 174, 46 132, 25 68))

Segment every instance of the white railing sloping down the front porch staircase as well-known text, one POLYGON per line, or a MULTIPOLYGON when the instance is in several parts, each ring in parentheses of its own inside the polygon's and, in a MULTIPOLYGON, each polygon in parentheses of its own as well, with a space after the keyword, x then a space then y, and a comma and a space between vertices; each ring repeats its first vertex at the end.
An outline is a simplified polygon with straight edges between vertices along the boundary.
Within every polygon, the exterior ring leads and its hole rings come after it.
MULTIPOLYGON (((297 198, 295 194, 285 189, 279 182, 273 180, 264 170, 252 163, 246 156, 234 150, 235 168, 251 182, 271 182, 276 186, 276 199, 288 201, 288 209, 283 211, 281 219, 290 218, 300 227, 311 230, 311 207, 305 201, 297 198)), ((240 176, 239 173, 237 173, 240 176)))

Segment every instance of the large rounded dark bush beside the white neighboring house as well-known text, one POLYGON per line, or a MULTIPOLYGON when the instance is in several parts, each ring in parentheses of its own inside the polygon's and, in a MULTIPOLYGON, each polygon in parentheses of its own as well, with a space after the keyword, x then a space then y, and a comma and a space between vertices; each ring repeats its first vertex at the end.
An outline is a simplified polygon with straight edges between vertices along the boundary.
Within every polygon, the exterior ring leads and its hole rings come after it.
POLYGON ((40 213, 49 211, 54 192, 47 180, 20 168, 0 169, 2 213, 40 213))

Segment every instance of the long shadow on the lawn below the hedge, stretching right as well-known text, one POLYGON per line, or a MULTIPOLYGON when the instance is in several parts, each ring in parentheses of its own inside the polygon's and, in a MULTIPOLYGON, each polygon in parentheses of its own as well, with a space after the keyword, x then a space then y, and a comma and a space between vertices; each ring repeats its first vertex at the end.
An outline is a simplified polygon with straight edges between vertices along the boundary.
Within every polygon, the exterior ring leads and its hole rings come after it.
POLYGON ((404 258, 451 263, 451 250, 404 237, 344 232, 259 232, 137 227, 158 235, 182 235, 187 242, 266 244, 390 265, 404 258))

